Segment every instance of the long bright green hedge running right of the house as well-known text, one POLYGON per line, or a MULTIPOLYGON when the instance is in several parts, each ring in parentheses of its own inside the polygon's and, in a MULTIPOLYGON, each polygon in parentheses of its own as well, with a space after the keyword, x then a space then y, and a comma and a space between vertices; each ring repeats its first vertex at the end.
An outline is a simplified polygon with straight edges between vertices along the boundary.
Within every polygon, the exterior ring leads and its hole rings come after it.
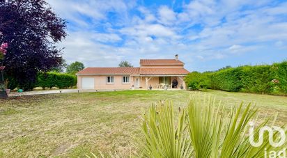
POLYGON ((210 88, 231 92, 287 94, 287 61, 273 65, 240 66, 217 72, 192 72, 185 77, 193 90, 210 88))

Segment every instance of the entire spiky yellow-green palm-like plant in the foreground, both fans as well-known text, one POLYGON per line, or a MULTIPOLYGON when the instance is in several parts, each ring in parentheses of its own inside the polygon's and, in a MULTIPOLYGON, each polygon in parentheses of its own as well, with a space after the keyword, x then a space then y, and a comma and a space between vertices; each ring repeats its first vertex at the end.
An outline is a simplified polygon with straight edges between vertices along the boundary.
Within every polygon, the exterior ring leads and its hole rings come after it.
MULTIPOLYGON (((268 143, 267 135, 263 144, 254 147, 249 143, 248 123, 257 110, 248 104, 240 104, 227 112, 215 99, 201 100, 194 95, 186 110, 174 120, 173 104, 153 104, 143 115, 142 132, 144 141, 139 141, 143 157, 264 157, 265 152, 283 150, 286 143, 274 148, 268 143)), ((275 117, 276 119, 276 117, 275 117)), ((266 119, 254 130, 258 138, 259 129, 267 125, 266 119)), ((274 133, 274 140, 279 134, 274 133)))

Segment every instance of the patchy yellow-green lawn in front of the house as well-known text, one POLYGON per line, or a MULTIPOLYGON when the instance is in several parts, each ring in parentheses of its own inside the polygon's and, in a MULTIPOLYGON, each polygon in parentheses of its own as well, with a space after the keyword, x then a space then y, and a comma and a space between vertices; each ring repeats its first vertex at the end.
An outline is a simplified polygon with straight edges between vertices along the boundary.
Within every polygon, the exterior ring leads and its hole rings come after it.
MULTIPOLYGON (((163 99, 184 107, 191 93, 125 90, 0 100, 0 157, 84 157, 98 150, 127 157, 137 152, 133 142, 140 136, 142 111, 163 99)), ((277 125, 287 120, 287 97, 217 90, 198 95, 212 95, 227 108, 253 102, 267 116, 279 113, 277 125)))

